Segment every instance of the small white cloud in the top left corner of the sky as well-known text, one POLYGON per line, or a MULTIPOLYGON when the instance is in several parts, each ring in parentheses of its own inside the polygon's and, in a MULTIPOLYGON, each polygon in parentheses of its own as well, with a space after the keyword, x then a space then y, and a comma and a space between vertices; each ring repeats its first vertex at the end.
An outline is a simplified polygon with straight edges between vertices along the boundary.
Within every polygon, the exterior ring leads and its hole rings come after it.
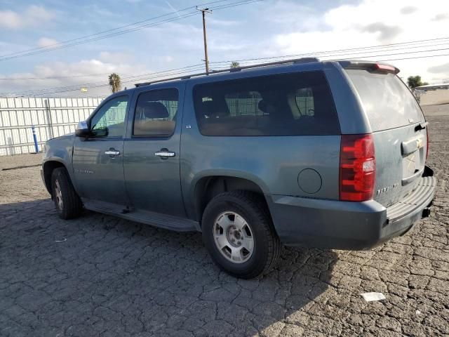
POLYGON ((51 21, 54 16, 52 11, 36 5, 28 6, 23 13, 0 11, 0 28, 23 29, 26 27, 36 27, 51 21))

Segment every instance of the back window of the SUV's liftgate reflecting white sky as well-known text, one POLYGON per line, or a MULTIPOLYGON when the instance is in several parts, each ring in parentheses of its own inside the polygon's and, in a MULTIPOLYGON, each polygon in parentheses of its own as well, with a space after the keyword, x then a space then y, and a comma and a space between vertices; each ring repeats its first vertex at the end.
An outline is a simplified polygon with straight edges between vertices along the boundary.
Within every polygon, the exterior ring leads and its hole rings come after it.
POLYGON ((403 81, 394 74, 347 70, 360 95, 373 131, 398 128, 423 121, 420 106, 403 81))

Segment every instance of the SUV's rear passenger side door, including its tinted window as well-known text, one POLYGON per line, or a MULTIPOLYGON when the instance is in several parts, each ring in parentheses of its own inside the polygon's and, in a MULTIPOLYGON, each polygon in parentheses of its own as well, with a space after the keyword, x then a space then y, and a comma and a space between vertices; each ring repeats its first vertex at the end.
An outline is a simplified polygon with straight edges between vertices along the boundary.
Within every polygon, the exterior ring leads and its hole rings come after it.
POLYGON ((126 191, 135 211, 185 216, 180 182, 184 84, 140 91, 123 151, 126 191))

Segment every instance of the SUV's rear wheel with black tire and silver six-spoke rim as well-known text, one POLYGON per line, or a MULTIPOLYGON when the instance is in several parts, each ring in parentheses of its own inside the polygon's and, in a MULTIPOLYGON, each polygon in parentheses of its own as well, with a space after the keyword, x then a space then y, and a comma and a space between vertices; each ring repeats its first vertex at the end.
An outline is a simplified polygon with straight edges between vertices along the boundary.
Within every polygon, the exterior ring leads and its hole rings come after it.
POLYGON ((218 194, 204 210, 202 232, 213 261, 234 277, 269 272, 281 252, 267 206, 255 193, 218 194))

